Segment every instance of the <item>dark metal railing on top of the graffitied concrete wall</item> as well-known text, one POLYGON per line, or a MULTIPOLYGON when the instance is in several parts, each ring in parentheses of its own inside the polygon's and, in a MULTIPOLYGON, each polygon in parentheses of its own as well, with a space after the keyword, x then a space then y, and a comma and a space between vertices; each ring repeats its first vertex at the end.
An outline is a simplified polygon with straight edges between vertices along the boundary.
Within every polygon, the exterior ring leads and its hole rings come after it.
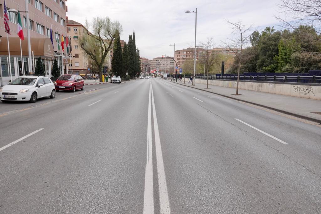
MULTIPOLYGON (((189 78, 189 76, 186 76, 189 78)), ((237 80, 237 75, 224 75, 224 76, 209 76, 209 79, 225 79, 225 80, 237 80)), ((207 79, 206 76, 196 76, 196 79, 207 79)), ((271 81, 271 82, 295 82, 295 83, 319 83, 321 84, 321 76, 245 76, 240 75, 240 80, 247 81, 271 81)))

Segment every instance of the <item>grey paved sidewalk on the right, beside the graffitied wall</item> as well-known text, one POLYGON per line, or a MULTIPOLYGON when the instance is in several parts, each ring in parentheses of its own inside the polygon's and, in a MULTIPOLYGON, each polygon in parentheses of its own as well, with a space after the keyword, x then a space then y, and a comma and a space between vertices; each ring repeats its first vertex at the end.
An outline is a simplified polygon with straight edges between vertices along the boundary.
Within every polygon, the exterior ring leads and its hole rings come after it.
MULTIPOLYGON (((177 82, 178 83, 178 82, 177 82)), ((321 124, 321 101, 300 97, 292 97, 285 95, 269 94, 264 92, 249 91, 239 89, 239 94, 236 93, 235 88, 212 86, 209 85, 206 89, 206 84, 196 83, 192 86, 188 83, 178 83, 180 85, 196 88, 199 90, 211 92, 213 94, 229 97, 235 100, 251 103, 254 105, 262 106, 268 109, 279 111, 285 114, 293 115, 302 119, 318 122, 321 124), (318 114, 313 113, 318 112, 318 114)))

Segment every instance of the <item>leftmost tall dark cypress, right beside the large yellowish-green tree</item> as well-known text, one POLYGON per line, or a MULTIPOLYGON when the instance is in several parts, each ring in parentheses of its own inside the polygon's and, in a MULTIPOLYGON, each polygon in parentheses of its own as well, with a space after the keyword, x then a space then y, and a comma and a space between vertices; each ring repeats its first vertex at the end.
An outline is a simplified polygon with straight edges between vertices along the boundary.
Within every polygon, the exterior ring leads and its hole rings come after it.
POLYGON ((118 31, 116 31, 116 37, 114 40, 113 59, 111 61, 111 65, 112 65, 112 72, 115 75, 125 77, 123 54, 122 54, 122 48, 120 45, 120 36, 118 31))

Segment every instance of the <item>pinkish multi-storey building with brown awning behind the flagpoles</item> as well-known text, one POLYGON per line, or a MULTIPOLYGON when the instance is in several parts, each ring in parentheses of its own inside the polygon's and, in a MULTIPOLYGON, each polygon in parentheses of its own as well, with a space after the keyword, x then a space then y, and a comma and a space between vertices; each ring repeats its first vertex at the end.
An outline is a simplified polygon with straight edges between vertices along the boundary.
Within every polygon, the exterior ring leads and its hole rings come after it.
MULTIPOLYGON (((65 72, 64 64, 62 63, 62 49, 57 50, 56 39, 61 37, 66 39, 66 12, 67 6, 65 0, 28 0, 29 24, 30 24, 30 43, 31 51, 35 61, 38 57, 42 58, 45 64, 46 76, 51 77, 51 70, 53 60, 59 59, 61 74, 65 72), (50 41, 50 28, 52 29, 53 45, 50 41)), ((25 0, 6 0, 6 9, 15 9, 19 11, 26 11, 25 0)), ((9 46, 10 46, 10 64, 8 64, 9 53, 7 46, 7 33, 4 29, 4 0, 0 0, 0 35, 2 36, 0 42, 0 58, 2 66, 2 80, 3 84, 7 84, 12 78, 22 76, 24 74, 32 74, 34 71, 34 64, 32 61, 32 70, 29 70, 28 65, 28 41, 27 41, 27 19, 26 13, 21 12, 22 30, 25 39, 21 41, 22 58, 20 53, 20 39, 17 35, 18 15, 15 12, 9 12, 9 46), (8 70, 11 67, 11 75, 8 70)), ((66 40, 65 40, 66 41, 66 40)), ((66 51, 66 47, 65 47, 66 51)), ((1 71, 1 70, 0 70, 1 71)))

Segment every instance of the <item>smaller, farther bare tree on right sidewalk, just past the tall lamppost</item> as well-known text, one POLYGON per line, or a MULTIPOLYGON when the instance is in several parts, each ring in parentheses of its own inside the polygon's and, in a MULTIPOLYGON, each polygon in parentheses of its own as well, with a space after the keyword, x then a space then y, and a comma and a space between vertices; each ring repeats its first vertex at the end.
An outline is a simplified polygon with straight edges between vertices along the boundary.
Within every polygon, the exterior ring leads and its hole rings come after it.
POLYGON ((219 56, 212 51, 214 46, 213 38, 207 38, 207 41, 202 42, 201 46, 203 46, 204 50, 202 51, 199 60, 204 63, 205 73, 207 75, 206 88, 208 88, 208 72, 213 64, 217 63, 219 56))

